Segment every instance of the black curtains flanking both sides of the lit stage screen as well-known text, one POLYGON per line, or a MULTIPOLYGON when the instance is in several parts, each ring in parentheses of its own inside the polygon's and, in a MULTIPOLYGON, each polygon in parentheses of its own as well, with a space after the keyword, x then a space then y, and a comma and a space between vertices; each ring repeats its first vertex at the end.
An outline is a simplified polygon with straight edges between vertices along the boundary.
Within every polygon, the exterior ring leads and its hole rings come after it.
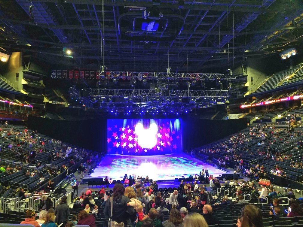
MULTIPOLYGON (((247 120, 205 120, 183 117, 183 149, 190 150, 241 131, 247 120)), ((182 127, 182 126, 181 126, 182 127)), ((28 128, 90 150, 107 150, 107 119, 54 120, 28 116, 28 128)))

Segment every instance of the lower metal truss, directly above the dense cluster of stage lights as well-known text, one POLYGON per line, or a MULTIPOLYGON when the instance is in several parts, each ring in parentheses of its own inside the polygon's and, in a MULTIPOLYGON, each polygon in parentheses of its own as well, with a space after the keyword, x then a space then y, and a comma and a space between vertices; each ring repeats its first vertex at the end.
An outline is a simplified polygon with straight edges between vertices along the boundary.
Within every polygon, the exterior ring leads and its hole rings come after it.
POLYGON ((159 90, 159 89, 82 89, 84 94, 90 97, 223 97, 228 98, 229 90, 159 90))

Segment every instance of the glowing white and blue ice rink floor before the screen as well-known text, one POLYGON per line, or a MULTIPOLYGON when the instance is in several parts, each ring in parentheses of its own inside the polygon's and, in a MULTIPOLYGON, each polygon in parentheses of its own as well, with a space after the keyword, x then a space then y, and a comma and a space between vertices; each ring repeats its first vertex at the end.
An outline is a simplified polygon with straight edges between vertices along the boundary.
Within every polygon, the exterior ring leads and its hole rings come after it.
POLYGON ((174 180, 182 176, 187 178, 190 174, 193 176, 199 174, 206 167, 208 173, 214 176, 229 172, 216 169, 185 153, 155 156, 108 154, 99 163, 94 173, 84 177, 82 183, 87 183, 88 180, 98 180, 101 177, 104 179, 105 176, 108 176, 108 179, 111 177, 112 180, 122 180, 125 173, 128 176, 135 174, 136 177, 148 175, 153 180, 174 180))

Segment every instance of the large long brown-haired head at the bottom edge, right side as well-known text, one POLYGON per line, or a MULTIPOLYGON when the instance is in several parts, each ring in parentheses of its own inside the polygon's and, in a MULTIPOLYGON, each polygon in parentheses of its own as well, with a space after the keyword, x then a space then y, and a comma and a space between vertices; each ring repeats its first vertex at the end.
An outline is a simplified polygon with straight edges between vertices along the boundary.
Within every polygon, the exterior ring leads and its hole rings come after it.
POLYGON ((237 227, 262 227, 262 214, 258 207, 248 204, 242 208, 237 227))

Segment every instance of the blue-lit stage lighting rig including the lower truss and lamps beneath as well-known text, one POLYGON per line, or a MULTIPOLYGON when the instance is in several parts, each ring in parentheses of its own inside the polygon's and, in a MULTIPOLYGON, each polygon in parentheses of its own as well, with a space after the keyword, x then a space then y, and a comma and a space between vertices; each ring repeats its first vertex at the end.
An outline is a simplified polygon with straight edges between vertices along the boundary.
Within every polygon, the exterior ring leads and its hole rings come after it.
POLYGON ((81 104, 109 112, 187 112, 223 104, 230 90, 82 89, 81 104), (113 111, 112 111, 113 110, 113 111), (115 110, 115 111, 114 111, 115 110), (185 111, 186 110, 186 111, 185 111))

